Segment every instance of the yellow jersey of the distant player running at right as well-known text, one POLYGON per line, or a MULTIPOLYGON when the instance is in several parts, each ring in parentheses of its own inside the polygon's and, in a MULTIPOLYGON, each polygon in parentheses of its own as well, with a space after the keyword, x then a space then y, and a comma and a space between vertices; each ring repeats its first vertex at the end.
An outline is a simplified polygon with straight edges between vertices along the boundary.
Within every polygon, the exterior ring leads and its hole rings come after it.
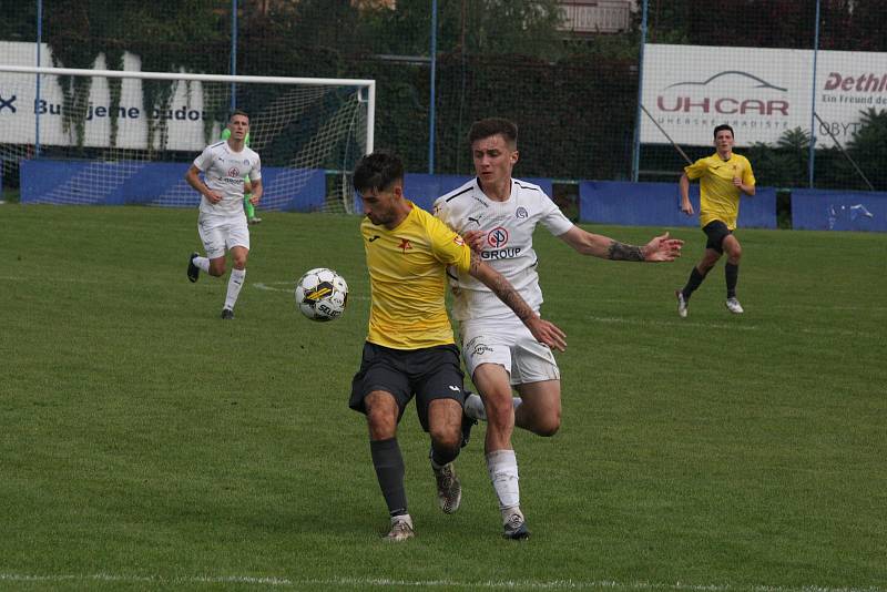
POLYGON ((724 161, 715 153, 685 166, 684 172, 687 178, 700 180, 700 225, 720 220, 731 231, 735 229, 741 192, 733 178, 740 177, 745 185, 755 184, 748 159, 732 154, 724 161))

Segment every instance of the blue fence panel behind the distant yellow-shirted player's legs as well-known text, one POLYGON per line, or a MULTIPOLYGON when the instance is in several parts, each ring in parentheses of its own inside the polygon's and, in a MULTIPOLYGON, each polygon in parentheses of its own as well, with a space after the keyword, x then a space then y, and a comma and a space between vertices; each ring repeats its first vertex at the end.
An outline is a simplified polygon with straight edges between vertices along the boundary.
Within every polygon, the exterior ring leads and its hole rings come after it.
MULTIPOLYGON (((677 183, 631 183, 582 181, 579 184, 581 222, 625 226, 697 226, 699 184, 690 186, 690 202, 696 215, 681 212, 677 183)), ((776 190, 757 187, 754 197, 743 196, 740 227, 776 227, 776 190)))

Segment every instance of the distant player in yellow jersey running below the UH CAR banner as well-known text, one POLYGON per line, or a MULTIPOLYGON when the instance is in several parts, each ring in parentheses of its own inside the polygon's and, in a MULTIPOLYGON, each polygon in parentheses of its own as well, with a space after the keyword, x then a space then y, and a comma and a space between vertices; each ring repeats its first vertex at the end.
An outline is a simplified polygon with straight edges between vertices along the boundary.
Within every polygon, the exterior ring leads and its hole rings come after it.
POLYGON ((700 287, 724 252, 727 254, 724 265, 727 285, 725 305, 733 314, 743 313, 742 305, 736 299, 742 246, 733 231, 736 229, 736 218, 740 215, 740 197, 743 193, 748 196, 755 194, 755 175, 748 160, 733 153, 733 127, 726 124, 715 127, 716 152, 685 166, 679 182, 681 211, 692 216, 694 212, 693 204, 690 203, 690 181, 700 180, 700 226, 708 237, 702 261, 691 271, 684 288, 675 292, 677 314, 682 318, 686 317, 690 296, 700 287))

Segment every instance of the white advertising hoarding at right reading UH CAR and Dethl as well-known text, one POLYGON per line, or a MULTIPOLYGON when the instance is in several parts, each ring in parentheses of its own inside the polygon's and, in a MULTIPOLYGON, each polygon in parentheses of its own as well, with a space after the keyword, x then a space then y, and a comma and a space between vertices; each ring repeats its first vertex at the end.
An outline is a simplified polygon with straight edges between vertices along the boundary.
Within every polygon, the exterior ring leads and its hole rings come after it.
MULTIPOLYGON (((710 145, 727 123, 736 144, 775 144, 788 130, 809 133, 817 146, 846 145, 860 111, 887 109, 887 53, 819 51, 814 95, 812 50, 648 44, 642 104, 677 144, 710 145), (829 134, 830 132, 830 134, 829 134)), ((644 115, 641 142, 669 143, 644 115)))

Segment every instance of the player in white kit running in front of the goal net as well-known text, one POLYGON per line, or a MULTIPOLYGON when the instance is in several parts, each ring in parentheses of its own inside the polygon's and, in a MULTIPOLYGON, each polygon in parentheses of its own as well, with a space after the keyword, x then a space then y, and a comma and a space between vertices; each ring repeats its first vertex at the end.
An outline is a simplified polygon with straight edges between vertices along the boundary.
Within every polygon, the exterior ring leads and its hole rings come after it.
POLYGON ((197 232, 205 257, 192 253, 187 277, 196 282, 201 271, 221 277, 225 274, 225 252, 231 251, 233 269, 228 278, 222 318, 234 318, 234 305, 246 278, 249 254, 249 228, 243 211, 244 177, 252 185, 251 202, 262 198, 262 161, 246 146, 249 116, 235 111, 228 120, 227 140, 206 146, 185 174, 185 181, 201 194, 197 232), (203 181, 201 180, 203 174, 203 181))

